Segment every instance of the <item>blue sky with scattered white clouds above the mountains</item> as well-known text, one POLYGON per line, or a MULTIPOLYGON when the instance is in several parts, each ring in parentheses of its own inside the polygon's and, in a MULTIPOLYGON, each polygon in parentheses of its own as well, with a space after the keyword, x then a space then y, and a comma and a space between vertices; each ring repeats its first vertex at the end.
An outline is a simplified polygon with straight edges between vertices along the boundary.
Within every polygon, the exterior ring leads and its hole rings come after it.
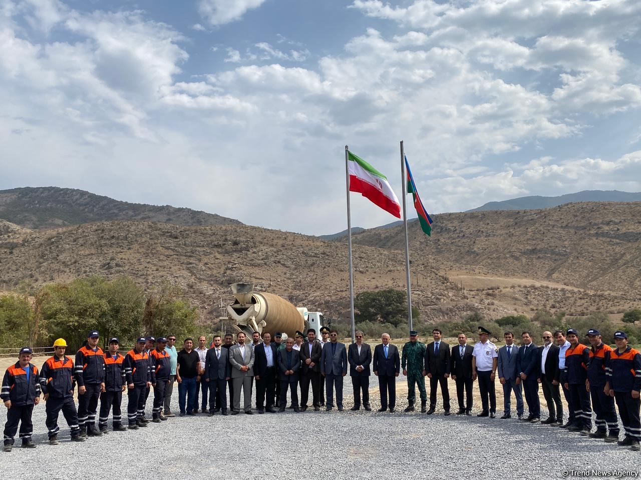
MULTIPOLYGON (((344 145, 431 213, 641 191, 638 0, 2 0, 0 189, 345 228, 344 145)), ((353 225, 393 221, 353 195, 353 225)))

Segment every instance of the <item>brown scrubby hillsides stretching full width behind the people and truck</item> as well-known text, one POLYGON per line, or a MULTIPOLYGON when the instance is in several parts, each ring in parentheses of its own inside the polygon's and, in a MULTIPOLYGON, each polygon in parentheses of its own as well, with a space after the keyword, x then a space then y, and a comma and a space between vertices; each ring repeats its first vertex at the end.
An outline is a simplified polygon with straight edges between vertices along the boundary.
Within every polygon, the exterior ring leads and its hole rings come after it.
MULTIPOLYGON (((570 204, 540 211, 435 216, 431 237, 410 224, 412 288, 420 321, 488 318, 545 308, 613 319, 641 307, 641 203, 570 204)), ((354 239, 354 289, 404 289, 402 227, 354 239)), ((78 276, 129 275, 153 289, 178 284, 203 321, 231 300, 229 284, 346 319, 347 246, 246 225, 181 227, 109 221, 28 230, 0 221, 0 290, 78 276)))

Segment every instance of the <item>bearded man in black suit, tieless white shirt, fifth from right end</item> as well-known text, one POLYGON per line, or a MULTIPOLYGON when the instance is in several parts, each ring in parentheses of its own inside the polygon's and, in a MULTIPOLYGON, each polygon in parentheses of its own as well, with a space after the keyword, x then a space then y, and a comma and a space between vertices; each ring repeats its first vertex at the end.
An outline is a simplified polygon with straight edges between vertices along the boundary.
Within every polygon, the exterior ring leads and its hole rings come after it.
POLYGON ((560 426, 563 424, 563 404, 558 381, 559 348, 552 341, 552 332, 543 332, 543 345, 538 348, 539 382, 543 387, 543 396, 547 403, 549 415, 541 423, 560 426))

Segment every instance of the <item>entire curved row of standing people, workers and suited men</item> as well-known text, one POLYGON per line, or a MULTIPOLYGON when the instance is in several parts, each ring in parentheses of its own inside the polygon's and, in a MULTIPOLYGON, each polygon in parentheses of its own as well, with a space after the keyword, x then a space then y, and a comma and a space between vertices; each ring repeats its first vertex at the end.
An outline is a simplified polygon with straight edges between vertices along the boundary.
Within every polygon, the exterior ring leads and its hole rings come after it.
POLYGON ((177 351, 176 337, 140 337, 135 347, 122 356, 119 340, 108 342, 108 351, 99 346, 99 333, 88 333, 86 344, 78 350, 75 360, 65 355, 67 342, 54 342, 54 355, 38 371, 31 364, 33 352, 24 347, 19 360, 4 374, 0 398, 7 408, 4 428, 4 451, 11 451, 18 432, 22 447, 33 448, 33 407, 44 395, 46 425, 49 443, 58 444, 58 415, 62 412, 71 439, 83 442, 87 436, 102 436, 109 431, 108 419, 112 414, 112 429, 146 428, 147 399, 153 387, 151 422, 160 423, 171 412, 174 384, 178 384, 179 415, 196 415, 199 397, 201 412, 209 416, 216 413, 231 415, 241 412, 240 396, 243 394, 242 411, 253 414, 251 397, 256 384, 256 410, 258 413, 285 412, 287 392, 290 392, 294 412, 308 409, 310 386, 315 411, 343 408, 343 380, 349 374, 352 380, 354 406, 371 410, 369 378, 371 372, 378 377, 380 403, 378 412, 395 411, 396 377, 401 368, 408 382, 408 406, 405 412, 415 410, 415 387, 418 386, 421 412, 431 415, 437 406, 440 385, 445 415, 450 415, 448 378, 456 382, 458 397, 457 415, 471 415, 472 386, 479 383, 482 410, 478 417, 496 416, 494 382, 498 374, 503 385, 504 414, 501 419, 512 417, 511 397, 516 398, 516 413, 520 420, 560 426, 581 435, 603 438, 639 450, 641 424, 641 354, 628 346, 625 332, 616 332, 616 349, 604 344, 597 330, 587 333, 590 348, 579 342, 579 333, 544 332, 540 347, 533 343, 532 335, 523 332, 522 344, 516 346, 512 332, 504 333, 505 345, 496 348, 489 341, 490 332, 479 327, 479 342, 467 344, 464 333, 458 335, 458 346, 450 348, 442 341, 442 332, 435 328, 433 342, 419 342, 418 332, 410 332, 410 341, 402 353, 390 344, 390 336, 383 333, 381 343, 372 353, 363 342, 363 332, 357 331, 355 342, 345 348, 338 342, 338 332, 323 327, 321 338, 310 328, 296 332, 294 338, 274 333, 253 332, 246 342, 244 332, 238 332, 236 341, 228 333, 215 335, 210 346, 206 337, 199 337, 198 346, 187 338, 183 349, 177 351), (287 337, 283 341, 283 337, 287 337), (554 344, 553 339, 556 340, 554 344), (425 377, 429 378, 429 409, 425 377), (74 390, 78 386, 78 408, 74 390), (539 385, 544 390, 549 417, 540 420, 539 385), (560 388, 569 407, 569 420, 563 424, 563 404, 560 388), (300 397, 298 392, 300 390, 300 397), (122 393, 128 392, 127 425, 122 422, 122 393), (523 391, 529 415, 524 415, 523 391), (624 426, 624 438, 619 440, 619 422, 615 401, 624 426), (100 409, 98 412, 98 404, 100 409), (592 432, 592 407, 596 415, 596 431, 592 432), (98 422, 96 426, 96 414, 98 422))

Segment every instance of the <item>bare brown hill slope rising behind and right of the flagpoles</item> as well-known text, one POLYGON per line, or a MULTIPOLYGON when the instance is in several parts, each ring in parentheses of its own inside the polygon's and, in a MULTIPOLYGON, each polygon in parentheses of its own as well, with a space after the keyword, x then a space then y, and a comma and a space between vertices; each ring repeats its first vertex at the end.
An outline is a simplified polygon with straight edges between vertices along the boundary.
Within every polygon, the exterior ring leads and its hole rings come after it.
MULTIPOLYGON (((449 213, 435 215, 432 227, 428 237, 410 223, 410 248, 413 257, 432 259, 435 268, 445 260, 487 275, 594 291, 641 290, 641 202, 449 213)), ((402 228, 373 228, 352 240, 402 250, 402 228)))

